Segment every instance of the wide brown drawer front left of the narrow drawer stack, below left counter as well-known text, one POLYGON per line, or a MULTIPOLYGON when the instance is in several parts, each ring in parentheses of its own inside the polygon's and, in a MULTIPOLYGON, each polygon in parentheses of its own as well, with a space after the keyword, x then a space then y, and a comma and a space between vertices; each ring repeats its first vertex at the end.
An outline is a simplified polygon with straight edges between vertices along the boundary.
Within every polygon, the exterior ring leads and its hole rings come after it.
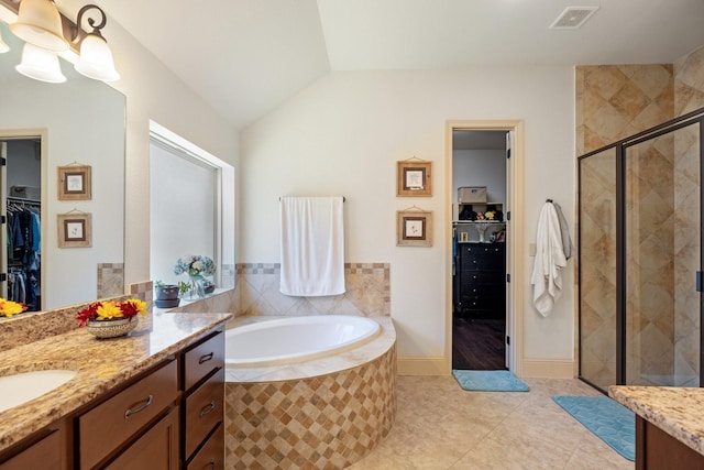
POLYGON ((172 405, 178 369, 170 361, 78 417, 81 468, 91 468, 172 405))

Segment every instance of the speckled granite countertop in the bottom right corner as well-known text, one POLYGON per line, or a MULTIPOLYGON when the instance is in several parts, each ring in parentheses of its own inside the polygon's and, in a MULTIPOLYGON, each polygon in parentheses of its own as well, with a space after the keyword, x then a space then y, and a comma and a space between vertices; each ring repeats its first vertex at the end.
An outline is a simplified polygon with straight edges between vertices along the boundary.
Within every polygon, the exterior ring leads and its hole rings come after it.
POLYGON ((704 389, 613 385, 608 394, 638 416, 704 455, 704 389))

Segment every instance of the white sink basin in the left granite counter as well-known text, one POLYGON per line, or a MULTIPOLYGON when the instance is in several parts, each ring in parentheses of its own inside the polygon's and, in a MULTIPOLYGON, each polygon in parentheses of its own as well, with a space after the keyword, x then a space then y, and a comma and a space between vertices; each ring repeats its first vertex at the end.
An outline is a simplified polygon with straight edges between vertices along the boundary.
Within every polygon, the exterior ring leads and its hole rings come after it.
POLYGON ((0 412, 34 400, 65 384, 76 371, 46 370, 0 376, 0 412))

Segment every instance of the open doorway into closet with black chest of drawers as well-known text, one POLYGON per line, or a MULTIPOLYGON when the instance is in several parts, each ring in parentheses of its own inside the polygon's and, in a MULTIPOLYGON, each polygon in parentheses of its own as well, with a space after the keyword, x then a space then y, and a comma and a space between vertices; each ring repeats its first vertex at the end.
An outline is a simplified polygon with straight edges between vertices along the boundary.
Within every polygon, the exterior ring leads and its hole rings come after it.
POLYGON ((452 131, 452 369, 508 369, 508 131, 452 131))

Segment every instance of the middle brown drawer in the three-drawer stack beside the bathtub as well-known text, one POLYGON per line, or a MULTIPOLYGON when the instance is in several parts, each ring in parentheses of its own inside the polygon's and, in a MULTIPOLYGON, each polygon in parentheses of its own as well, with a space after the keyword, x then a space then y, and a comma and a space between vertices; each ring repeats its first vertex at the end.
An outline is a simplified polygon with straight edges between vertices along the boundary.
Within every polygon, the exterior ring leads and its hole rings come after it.
POLYGON ((220 369, 206 383, 186 398, 185 455, 189 457, 223 417, 224 369, 220 369))

